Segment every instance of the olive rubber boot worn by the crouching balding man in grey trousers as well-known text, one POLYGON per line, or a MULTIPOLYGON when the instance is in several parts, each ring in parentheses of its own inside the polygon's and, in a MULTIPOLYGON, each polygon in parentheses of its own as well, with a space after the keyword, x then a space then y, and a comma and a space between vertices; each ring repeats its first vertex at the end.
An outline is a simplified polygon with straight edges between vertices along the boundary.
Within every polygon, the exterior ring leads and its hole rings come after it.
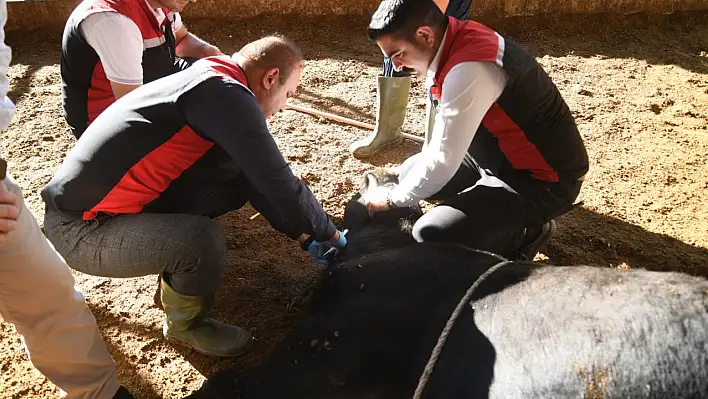
POLYGON ((235 357, 245 353, 253 343, 246 330, 207 318, 214 296, 188 296, 175 292, 165 279, 161 282, 165 323, 162 333, 168 342, 189 346, 199 353, 218 357, 235 357))

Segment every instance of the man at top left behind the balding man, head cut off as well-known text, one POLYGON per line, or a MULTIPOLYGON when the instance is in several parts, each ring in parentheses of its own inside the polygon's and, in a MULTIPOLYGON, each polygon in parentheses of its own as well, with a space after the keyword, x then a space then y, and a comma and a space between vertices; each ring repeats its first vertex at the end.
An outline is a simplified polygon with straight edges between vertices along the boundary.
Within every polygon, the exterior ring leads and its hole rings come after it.
POLYGON ((85 0, 74 10, 64 29, 61 75, 76 138, 116 99, 187 67, 185 58, 222 55, 187 31, 179 12, 188 2, 85 0))

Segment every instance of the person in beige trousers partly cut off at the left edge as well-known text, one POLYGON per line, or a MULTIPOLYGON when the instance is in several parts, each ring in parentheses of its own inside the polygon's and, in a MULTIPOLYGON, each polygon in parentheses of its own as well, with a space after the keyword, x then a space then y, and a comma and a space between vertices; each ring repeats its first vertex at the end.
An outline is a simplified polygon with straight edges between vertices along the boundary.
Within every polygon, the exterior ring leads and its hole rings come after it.
MULTIPOLYGON (((5 45, 5 0, 0 0, 0 131, 15 106, 7 98, 11 50, 5 45)), ((32 364, 69 399, 131 399, 118 386, 84 296, 64 259, 42 234, 0 151, 0 314, 24 337, 32 364)))

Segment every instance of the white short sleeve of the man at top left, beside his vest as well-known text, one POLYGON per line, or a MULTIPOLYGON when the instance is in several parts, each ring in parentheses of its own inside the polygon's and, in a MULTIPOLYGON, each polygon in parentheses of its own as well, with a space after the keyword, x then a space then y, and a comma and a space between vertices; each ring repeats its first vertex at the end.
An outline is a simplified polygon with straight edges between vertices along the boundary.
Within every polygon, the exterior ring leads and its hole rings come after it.
POLYGON ((143 36, 135 22, 125 15, 102 12, 86 17, 80 29, 101 59, 108 80, 143 83, 143 36))

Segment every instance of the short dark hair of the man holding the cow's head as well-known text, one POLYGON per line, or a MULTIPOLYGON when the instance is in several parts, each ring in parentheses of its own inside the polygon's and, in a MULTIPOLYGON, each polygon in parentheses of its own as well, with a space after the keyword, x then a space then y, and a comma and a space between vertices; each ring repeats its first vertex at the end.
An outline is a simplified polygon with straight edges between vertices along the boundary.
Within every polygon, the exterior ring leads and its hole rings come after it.
POLYGON ((432 0, 383 0, 366 33, 374 41, 384 35, 412 39, 421 26, 444 29, 446 24, 445 14, 432 0))

